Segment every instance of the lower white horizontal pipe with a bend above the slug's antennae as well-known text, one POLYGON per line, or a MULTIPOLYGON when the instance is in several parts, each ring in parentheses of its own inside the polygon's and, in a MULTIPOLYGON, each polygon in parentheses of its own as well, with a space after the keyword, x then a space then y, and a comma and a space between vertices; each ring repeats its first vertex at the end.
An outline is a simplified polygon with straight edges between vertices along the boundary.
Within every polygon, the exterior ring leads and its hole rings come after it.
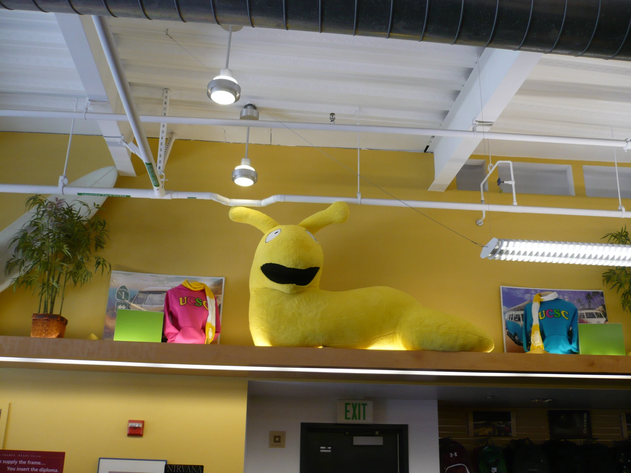
POLYGON ((394 199, 362 199, 357 197, 327 197, 327 196, 288 196, 276 194, 266 199, 228 199, 215 192, 178 192, 167 190, 160 197, 151 189, 120 189, 109 187, 74 187, 70 185, 29 185, 29 184, 0 184, 0 192, 13 194, 63 194, 66 196, 90 196, 107 197, 133 197, 139 199, 202 199, 219 202, 226 206, 266 207, 274 202, 299 202, 309 204, 333 204, 333 202, 346 202, 347 204, 381 206, 381 207, 415 207, 419 209, 446 209, 469 211, 493 211, 507 213, 546 214, 546 215, 573 215, 584 217, 615 217, 627 218, 625 211, 595 210, 595 209, 566 209, 563 207, 531 207, 531 206, 505 206, 489 204, 469 204, 467 202, 435 202, 435 201, 397 201, 394 199))

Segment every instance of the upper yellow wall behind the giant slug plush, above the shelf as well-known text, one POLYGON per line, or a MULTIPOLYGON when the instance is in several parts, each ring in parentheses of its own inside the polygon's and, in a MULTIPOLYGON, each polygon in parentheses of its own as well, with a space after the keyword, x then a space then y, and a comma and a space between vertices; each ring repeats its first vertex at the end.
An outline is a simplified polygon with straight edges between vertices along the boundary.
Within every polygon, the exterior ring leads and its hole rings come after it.
MULTIPOLYGON (((73 148, 69 170, 75 175, 71 178, 110 163, 102 138, 81 139, 89 146, 73 148)), ((57 146, 54 156, 50 155, 51 143, 57 141, 61 143, 62 137, 0 134, 3 180, 10 168, 11 182, 57 182, 65 155, 62 146, 57 146), (42 162, 40 156, 44 152, 49 153, 46 155, 49 161, 42 162)), ((151 144, 155 147, 156 140, 151 140, 151 144)), ((357 151, 353 149, 324 149, 324 152, 350 168, 357 165, 357 151)), ((167 188, 256 199, 273 194, 355 196, 357 191, 357 177, 321 151, 265 145, 251 146, 250 157, 259 172, 259 182, 241 188, 230 181, 230 172, 243 153, 243 144, 176 141, 167 166, 167 188)), ((587 198, 584 194, 582 165, 604 163, 546 162, 573 166, 576 196, 520 194, 519 204, 617 208, 615 199, 587 198)), ((461 202, 480 199, 477 192, 458 191, 453 184, 446 192, 427 191, 433 178, 433 158, 428 154, 362 151, 362 172, 401 199, 461 202)), ((136 178, 119 177, 117 187, 148 188, 149 180, 146 172, 136 178)), ((510 194, 498 194, 494 184, 490 187, 490 203, 510 204, 510 194)), ((367 182, 362 183, 362 195, 389 198, 367 182)), ((21 209, 16 210, 16 202, 23 199, 25 196, 1 194, 0 218, 6 214, 12 218, 18 216, 21 209)), ((626 205, 631 208, 631 202, 626 205)), ((104 207, 102 214, 110 223, 112 240, 103 255, 114 269, 225 276, 221 342, 252 343, 247 325, 247 281, 261 237, 258 230, 233 223, 228 219, 228 207, 211 201, 110 198, 104 207)), ((324 207, 285 203, 273 204, 264 211, 280 223, 297 223, 324 207)), ((478 227, 477 212, 430 209, 420 212, 483 244, 491 237, 599 242, 605 233, 619 230, 624 223, 611 218, 491 213, 487 214, 485 225, 478 227)), ((500 285, 603 288, 601 267, 481 260, 479 247, 410 208, 351 206, 348 221, 324 228, 318 239, 324 248, 323 289, 376 285, 401 289, 429 307, 460 315, 488 330, 497 351, 503 350, 500 285)), ((95 276, 89 286, 68 292, 64 305, 64 315, 70 321, 67 337, 85 338, 91 332, 102 334, 108 284, 109 276, 95 276)), ((610 321, 624 324, 627 349, 631 349, 629 315, 622 311, 615 293, 606 290, 605 297, 610 321)), ((37 301, 30 295, 14 294, 11 289, 0 293, 0 334, 28 336, 30 313, 36 309, 37 301)))

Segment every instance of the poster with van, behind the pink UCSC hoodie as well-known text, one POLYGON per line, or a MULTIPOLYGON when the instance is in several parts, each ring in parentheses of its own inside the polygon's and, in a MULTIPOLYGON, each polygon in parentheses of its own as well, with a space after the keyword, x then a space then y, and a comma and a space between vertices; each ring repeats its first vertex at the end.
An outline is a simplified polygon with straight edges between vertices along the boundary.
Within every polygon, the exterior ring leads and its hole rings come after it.
MULTIPOLYGON (((219 307, 218 317, 221 323, 225 277, 172 276, 146 272, 112 271, 110 289, 107 295, 103 340, 114 339, 116 311, 118 309, 163 312, 164 299, 168 289, 176 288, 184 283, 184 279, 204 283, 213 291, 219 307)), ((220 336, 221 334, 215 335, 213 344, 219 343, 220 336)))

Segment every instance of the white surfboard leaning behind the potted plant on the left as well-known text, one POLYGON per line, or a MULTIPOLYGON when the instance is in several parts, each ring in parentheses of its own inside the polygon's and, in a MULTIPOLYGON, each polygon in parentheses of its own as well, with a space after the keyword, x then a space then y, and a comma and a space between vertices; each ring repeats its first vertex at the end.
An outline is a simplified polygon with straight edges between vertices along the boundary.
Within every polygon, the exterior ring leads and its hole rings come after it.
MULTIPOLYGON (((71 182, 69 185, 74 185, 77 187, 114 187, 116 184, 116 178, 118 177, 118 171, 116 170, 116 166, 107 166, 105 168, 97 169, 96 171, 92 171, 89 174, 86 174, 83 177, 78 178, 77 180, 71 182)), ((25 196, 26 199, 26 196, 25 196)), ((73 204, 74 202, 83 201, 88 205, 98 204, 102 205, 105 202, 107 197, 102 196, 62 196, 59 194, 52 195, 48 197, 49 201, 54 201, 55 199, 63 199, 68 202, 68 204, 73 204)), ((13 256, 13 249, 9 248, 9 243, 11 242, 11 238, 14 237, 18 231, 24 226, 25 223, 32 216, 32 212, 29 211, 25 213, 23 216, 18 218, 15 222, 11 223, 8 227, 6 227, 3 231, 0 231, 0 292, 4 291, 4 289, 8 288, 11 285, 11 279, 18 275, 17 271, 15 274, 9 274, 5 276, 4 274, 4 265, 6 262, 13 256)))

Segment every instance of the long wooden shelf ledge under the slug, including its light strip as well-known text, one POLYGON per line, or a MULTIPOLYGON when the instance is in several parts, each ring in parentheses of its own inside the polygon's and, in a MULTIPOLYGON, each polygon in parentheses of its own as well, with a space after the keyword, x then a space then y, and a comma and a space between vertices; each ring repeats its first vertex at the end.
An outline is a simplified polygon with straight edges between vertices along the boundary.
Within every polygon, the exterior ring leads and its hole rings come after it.
POLYGON ((296 380, 631 386, 631 356, 257 347, 0 336, 0 366, 296 380))

